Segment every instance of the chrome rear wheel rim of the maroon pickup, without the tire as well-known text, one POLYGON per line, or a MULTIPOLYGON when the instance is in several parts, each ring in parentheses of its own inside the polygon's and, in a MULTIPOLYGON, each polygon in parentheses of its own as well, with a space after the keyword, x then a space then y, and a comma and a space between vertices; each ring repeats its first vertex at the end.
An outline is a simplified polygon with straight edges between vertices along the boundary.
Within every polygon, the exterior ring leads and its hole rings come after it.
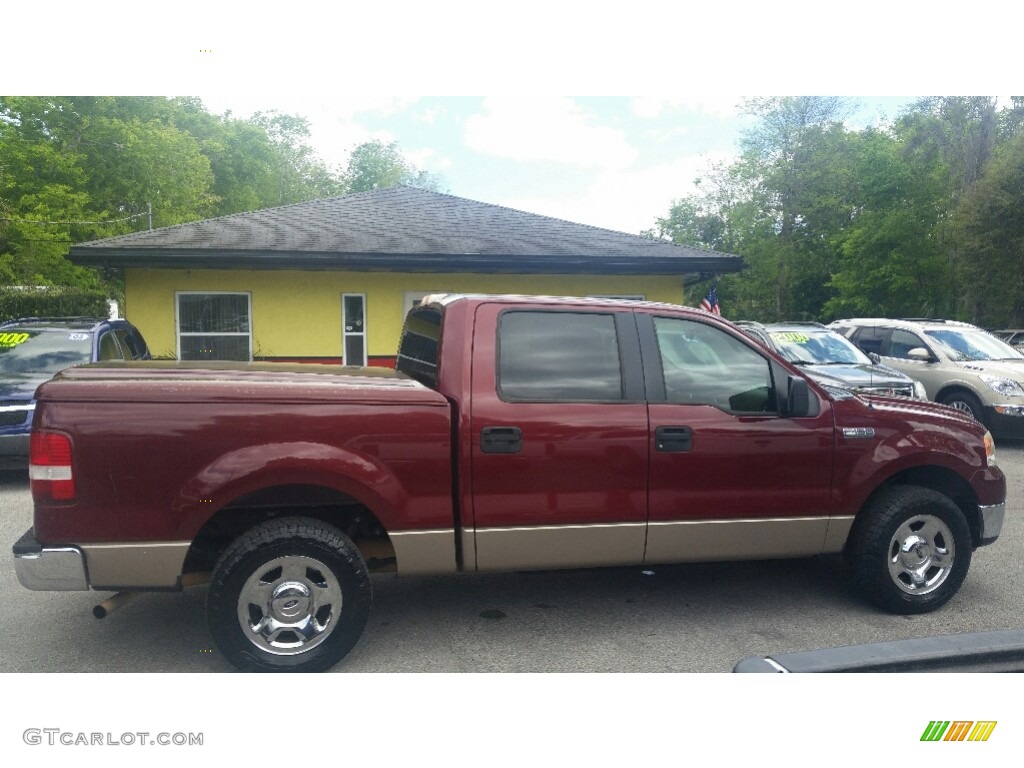
POLYGON ((341 585, 313 557, 279 557, 259 567, 239 595, 239 624, 260 650, 275 655, 305 653, 338 626, 341 585))

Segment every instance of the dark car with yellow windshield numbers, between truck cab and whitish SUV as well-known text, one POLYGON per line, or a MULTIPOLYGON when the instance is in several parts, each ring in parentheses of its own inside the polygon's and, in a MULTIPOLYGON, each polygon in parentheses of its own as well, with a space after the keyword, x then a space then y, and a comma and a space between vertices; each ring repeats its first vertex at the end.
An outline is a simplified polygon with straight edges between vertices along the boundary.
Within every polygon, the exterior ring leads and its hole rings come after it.
POLYGON ((845 336, 817 323, 762 325, 740 321, 736 325, 825 387, 858 394, 928 397, 921 382, 877 364, 845 336))

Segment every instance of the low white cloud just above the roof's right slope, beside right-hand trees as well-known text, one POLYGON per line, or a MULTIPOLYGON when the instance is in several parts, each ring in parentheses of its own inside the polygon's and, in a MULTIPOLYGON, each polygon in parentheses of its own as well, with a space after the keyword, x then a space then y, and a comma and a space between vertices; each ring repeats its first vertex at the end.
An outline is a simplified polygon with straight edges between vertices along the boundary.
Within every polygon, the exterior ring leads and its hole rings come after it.
POLYGON ((669 213, 673 201, 695 191, 693 180, 712 163, 728 161, 728 153, 681 158, 644 170, 609 170, 597 174, 575 197, 530 197, 494 201, 498 205, 554 216, 581 224, 638 234, 669 213))

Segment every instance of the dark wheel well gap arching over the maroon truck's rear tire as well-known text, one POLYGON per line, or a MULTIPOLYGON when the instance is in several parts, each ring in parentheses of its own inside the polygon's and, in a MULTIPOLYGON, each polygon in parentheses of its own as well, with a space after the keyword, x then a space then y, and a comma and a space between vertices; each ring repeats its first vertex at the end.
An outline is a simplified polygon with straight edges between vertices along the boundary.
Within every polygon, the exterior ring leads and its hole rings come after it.
POLYGON ((394 547, 380 520, 351 497, 321 485, 276 485, 221 507, 193 539, 183 572, 213 569, 246 530, 275 517, 308 517, 334 525, 359 549, 371 572, 395 570, 394 547))

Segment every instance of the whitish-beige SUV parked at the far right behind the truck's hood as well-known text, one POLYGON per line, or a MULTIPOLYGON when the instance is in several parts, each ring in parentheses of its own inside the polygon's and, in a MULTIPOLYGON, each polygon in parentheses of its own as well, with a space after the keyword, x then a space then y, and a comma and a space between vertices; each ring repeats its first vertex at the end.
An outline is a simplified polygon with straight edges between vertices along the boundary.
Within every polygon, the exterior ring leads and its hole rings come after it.
POLYGON ((954 321, 878 317, 828 327, 992 434, 1024 436, 1024 354, 987 331, 954 321))

